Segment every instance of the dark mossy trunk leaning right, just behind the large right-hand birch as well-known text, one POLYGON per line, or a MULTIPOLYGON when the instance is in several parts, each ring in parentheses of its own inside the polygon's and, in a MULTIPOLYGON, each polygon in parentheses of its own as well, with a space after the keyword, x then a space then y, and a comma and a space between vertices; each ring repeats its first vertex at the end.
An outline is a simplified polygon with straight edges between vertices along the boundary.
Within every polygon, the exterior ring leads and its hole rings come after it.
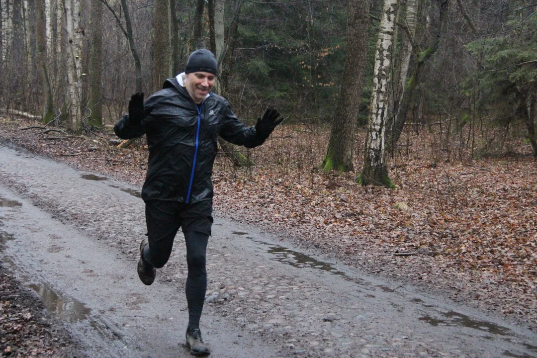
MULTIPOLYGON (((405 90, 403 97, 401 98, 398 112, 393 121, 393 127, 390 126, 389 134, 387 136, 387 152, 392 152, 393 148, 397 144, 401 133, 403 132, 404 123, 407 120, 407 115, 410 108, 413 107, 413 99, 415 98, 415 92, 417 86, 421 82, 422 72, 425 68, 425 65, 429 59, 434 55, 438 46, 440 45, 440 39, 442 35, 442 30, 444 28, 444 23, 446 20, 446 13, 449 0, 438 0, 439 3, 439 20, 437 27, 434 29, 434 35, 432 36, 432 43, 425 50, 417 53, 416 64, 412 70, 412 75, 407 80, 405 84, 405 90)), ((414 52, 417 52, 417 49, 414 49, 414 52)))

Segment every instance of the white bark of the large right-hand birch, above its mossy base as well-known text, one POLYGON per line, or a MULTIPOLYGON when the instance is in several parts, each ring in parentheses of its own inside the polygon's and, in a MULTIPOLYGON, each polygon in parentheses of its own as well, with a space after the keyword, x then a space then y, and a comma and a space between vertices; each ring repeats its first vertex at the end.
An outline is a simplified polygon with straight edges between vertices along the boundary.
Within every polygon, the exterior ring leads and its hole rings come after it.
POLYGON ((384 162, 384 134, 388 109, 388 82, 393 46, 397 0, 385 0, 380 22, 379 40, 376 45, 373 76, 373 94, 369 114, 366 160, 371 167, 380 167, 384 162))

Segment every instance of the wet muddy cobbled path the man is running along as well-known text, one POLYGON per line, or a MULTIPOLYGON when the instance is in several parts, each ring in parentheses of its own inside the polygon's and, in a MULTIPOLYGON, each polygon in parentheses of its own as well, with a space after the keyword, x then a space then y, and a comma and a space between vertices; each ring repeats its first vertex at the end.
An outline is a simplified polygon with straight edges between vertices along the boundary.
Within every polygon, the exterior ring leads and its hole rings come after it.
MULTIPOLYGON (((89 357, 187 357, 182 235, 136 275, 139 188, 0 144, 0 258, 89 357)), ((201 328, 214 357, 535 357, 503 318, 285 245, 215 213, 201 328)))

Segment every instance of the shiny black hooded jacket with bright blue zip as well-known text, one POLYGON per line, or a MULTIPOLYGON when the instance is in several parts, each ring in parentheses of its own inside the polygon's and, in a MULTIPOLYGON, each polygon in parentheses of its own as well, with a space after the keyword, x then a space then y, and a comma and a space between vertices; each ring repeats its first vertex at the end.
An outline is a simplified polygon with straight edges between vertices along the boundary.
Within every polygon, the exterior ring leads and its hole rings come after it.
POLYGON ((217 139, 253 148, 263 144, 255 127, 246 127, 226 99, 214 93, 195 105, 182 85, 182 74, 169 78, 164 89, 144 104, 153 107, 139 126, 128 114, 114 126, 122 139, 147 135, 149 163, 142 199, 194 203, 213 198, 211 175, 218 150, 217 139))

